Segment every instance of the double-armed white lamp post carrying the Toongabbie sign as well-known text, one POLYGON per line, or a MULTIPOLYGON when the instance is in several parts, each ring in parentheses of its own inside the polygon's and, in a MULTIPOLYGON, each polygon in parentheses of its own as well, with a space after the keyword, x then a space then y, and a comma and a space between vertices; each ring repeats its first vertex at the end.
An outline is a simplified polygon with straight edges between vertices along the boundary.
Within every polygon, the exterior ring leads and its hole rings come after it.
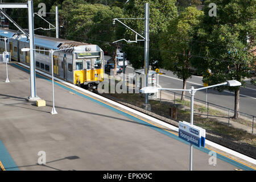
MULTIPOLYGON (((190 124, 193 125, 193 115, 194 115, 194 96, 195 93, 198 90, 203 90, 203 89, 209 89, 213 88, 216 86, 222 86, 222 85, 228 85, 228 86, 241 86, 241 82, 237 80, 229 80, 226 82, 223 82, 221 84, 216 84, 216 85, 210 85, 210 86, 205 86, 202 88, 195 89, 193 86, 191 89, 170 89, 170 88, 157 88, 156 86, 147 86, 141 89, 142 93, 155 93, 158 92, 158 90, 176 90, 176 91, 188 91, 191 94, 191 104, 190 104, 190 110, 191 110, 191 116, 190 116, 190 124)), ((193 145, 190 144, 190 160, 189 160, 189 170, 192 171, 192 157, 193 157, 193 145)))

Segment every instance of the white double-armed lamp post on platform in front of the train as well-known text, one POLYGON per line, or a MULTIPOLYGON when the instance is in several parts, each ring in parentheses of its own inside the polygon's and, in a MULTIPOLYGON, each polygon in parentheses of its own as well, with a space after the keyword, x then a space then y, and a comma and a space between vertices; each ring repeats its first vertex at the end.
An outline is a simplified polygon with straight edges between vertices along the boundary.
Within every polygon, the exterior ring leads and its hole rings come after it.
MULTIPOLYGON (((58 114, 56 109, 55 109, 55 100, 54 100, 54 80, 53 80, 53 53, 56 52, 56 51, 64 51, 64 50, 67 50, 67 49, 73 49, 74 47, 70 47, 70 48, 65 48, 65 49, 57 49, 57 50, 44 50, 44 52, 51 52, 51 64, 52 64, 52 111, 51 111, 51 114, 58 114)), ((21 51, 22 52, 26 52, 26 51, 42 51, 40 49, 30 49, 30 48, 22 48, 21 51)))

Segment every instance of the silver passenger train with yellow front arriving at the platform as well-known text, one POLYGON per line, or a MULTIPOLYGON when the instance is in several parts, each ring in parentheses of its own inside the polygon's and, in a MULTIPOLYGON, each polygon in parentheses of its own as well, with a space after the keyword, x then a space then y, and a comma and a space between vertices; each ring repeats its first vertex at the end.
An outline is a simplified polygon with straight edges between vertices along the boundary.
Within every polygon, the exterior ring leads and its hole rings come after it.
MULTIPOLYGON (((30 65, 30 53, 22 52, 22 48, 29 48, 29 40, 21 32, 0 28, 0 52, 10 52, 11 59, 30 65)), ((104 51, 89 43, 73 40, 56 39, 48 36, 35 35, 35 68, 51 75, 51 49, 53 53, 53 75, 74 85, 84 86, 86 89, 97 89, 97 85, 104 80, 104 51), (72 48, 74 49, 67 49, 72 48)))

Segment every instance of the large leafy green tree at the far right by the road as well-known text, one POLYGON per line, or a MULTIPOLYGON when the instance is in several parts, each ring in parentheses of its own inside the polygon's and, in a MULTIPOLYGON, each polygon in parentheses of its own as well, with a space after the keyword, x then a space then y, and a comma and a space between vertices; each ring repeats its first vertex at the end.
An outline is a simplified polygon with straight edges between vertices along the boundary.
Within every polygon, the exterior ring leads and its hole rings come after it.
MULTIPOLYGON (((255 46, 255 5, 256 0, 205 2, 205 14, 195 39, 207 43, 197 45, 195 48, 201 49, 201 55, 207 58, 194 63, 201 72, 205 73, 207 69, 212 71, 212 76, 204 76, 205 81, 217 84, 226 80, 237 80, 245 86, 243 79, 251 77, 250 65, 255 62, 255 57, 250 51, 255 46), (208 15, 208 5, 211 2, 217 5, 217 17, 208 15)), ((234 118, 238 118, 240 87, 221 86, 217 89, 219 91, 228 89, 235 93, 234 118)))

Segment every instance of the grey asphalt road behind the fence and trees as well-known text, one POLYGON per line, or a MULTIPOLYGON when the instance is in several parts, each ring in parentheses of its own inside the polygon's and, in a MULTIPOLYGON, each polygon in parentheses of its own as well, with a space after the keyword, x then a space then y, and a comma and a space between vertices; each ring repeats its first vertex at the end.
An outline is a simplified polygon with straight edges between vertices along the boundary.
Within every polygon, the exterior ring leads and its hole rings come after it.
MULTIPOLYGON (((107 56, 106 59, 108 59, 107 56)), ((166 71, 164 69, 160 69, 160 71, 166 73, 166 75, 159 75, 159 85, 162 86, 162 88, 181 89, 183 87, 183 81, 177 78, 177 76, 175 76, 171 71, 166 71)), ((129 73, 134 73, 134 68, 132 68, 131 65, 126 67, 126 75, 129 73)), ((189 78, 187 81, 187 89, 191 88, 191 86, 194 86, 195 88, 203 86, 202 77, 192 76, 192 78, 189 78)), ((240 90, 240 111, 242 113, 256 115, 256 86, 251 85, 249 84, 249 82, 247 82, 246 87, 247 88, 241 87, 240 90)), ((205 93, 205 90, 198 91, 196 92, 195 98, 205 101, 205 93)), ((187 92, 186 96, 190 96, 190 94, 187 92)), ((217 90, 209 89, 208 102, 228 107, 229 109, 234 109, 234 93, 230 93, 228 91, 218 92, 217 90)))

